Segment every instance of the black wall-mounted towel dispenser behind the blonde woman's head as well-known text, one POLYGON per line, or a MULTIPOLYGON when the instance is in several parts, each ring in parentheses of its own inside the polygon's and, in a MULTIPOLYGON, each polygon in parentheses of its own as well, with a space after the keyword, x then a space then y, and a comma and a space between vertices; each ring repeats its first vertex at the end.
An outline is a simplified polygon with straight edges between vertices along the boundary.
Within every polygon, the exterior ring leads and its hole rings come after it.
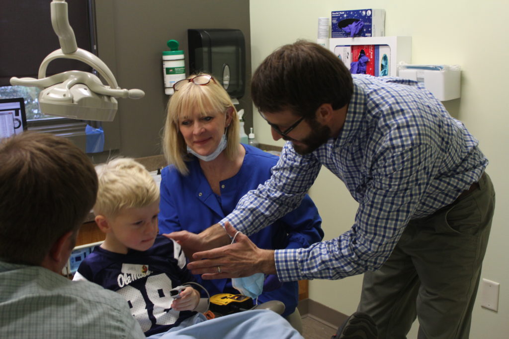
POLYGON ((206 72, 220 81, 232 98, 244 95, 246 48, 239 29, 188 29, 190 74, 206 72))

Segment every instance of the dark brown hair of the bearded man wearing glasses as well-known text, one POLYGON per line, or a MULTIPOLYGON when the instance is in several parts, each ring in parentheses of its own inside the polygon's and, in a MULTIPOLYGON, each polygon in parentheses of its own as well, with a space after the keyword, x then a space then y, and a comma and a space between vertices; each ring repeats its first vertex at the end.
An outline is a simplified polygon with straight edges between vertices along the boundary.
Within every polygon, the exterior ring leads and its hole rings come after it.
POLYGON ((313 119, 322 104, 338 109, 350 102, 353 82, 338 57, 324 47, 303 40, 267 56, 251 80, 251 96, 260 112, 290 109, 313 119))

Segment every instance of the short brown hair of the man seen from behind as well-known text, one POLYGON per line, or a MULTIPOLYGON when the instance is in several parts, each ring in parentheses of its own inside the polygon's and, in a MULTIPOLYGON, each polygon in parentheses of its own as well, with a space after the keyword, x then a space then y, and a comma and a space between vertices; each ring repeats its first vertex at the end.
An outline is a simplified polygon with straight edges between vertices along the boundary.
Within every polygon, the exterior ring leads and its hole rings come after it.
POLYGON ((0 143, 0 164, 0 259, 39 265, 94 205, 94 166, 69 140, 31 132, 0 143))

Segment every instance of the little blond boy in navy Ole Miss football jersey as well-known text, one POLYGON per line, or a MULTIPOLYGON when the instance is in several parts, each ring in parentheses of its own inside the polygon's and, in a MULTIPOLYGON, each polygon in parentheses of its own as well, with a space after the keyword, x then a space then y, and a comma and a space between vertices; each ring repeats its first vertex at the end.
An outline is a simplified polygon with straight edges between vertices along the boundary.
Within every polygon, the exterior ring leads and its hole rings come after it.
POLYGON ((112 160, 96 166, 96 172, 93 210, 106 239, 81 263, 74 280, 123 295, 147 336, 189 318, 186 325, 205 320, 192 312, 200 300, 197 290, 187 286, 175 299, 170 293, 193 276, 180 245, 158 235, 159 188, 150 173, 132 159, 112 160))

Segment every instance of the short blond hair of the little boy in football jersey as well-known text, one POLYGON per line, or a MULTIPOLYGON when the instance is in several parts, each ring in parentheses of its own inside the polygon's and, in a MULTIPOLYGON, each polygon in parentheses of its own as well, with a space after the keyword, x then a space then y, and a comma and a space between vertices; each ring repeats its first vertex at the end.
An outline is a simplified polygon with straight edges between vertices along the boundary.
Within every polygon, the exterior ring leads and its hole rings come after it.
POLYGON ((124 208, 146 207, 159 199, 159 187, 145 166, 117 158, 96 166, 99 190, 94 214, 115 218, 124 208))

